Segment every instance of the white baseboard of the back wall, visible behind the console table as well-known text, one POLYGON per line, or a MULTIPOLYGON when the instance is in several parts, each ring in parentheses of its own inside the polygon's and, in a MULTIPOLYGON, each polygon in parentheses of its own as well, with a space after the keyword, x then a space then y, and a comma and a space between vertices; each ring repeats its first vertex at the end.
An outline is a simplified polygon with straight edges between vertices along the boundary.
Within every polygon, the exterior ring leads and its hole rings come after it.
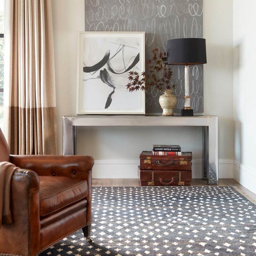
MULTIPOLYGON (((139 160, 95 160, 93 178, 138 178, 139 160)), ((202 177, 202 160, 192 160, 192 178, 202 177)), ((233 178, 233 160, 219 160, 219 178, 233 178)))

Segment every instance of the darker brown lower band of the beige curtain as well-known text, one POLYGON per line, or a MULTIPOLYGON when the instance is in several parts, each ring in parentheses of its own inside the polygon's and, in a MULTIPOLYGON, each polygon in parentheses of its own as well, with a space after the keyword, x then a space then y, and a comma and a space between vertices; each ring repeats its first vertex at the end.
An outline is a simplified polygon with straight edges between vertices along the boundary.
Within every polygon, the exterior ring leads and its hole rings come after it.
POLYGON ((10 122, 9 147, 11 154, 53 154, 57 151, 55 107, 39 109, 22 109, 21 107, 5 108, 5 115, 10 122), (22 126, 22 123, 29 125, 22 126), (44 131, 44 132, 43 132, 44 131))

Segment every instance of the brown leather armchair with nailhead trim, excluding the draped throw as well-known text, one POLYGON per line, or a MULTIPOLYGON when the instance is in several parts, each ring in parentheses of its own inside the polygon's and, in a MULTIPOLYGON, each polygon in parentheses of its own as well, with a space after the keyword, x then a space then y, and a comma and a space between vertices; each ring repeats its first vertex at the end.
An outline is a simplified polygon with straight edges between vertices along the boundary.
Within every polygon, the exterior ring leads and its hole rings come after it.
POLYGON ((21 169, 11 179, 12 224, 0 229, 0 255, 32 256, 82 228, 91 242, 92 157, 9 155, 0 129, 0 162, 21 169))

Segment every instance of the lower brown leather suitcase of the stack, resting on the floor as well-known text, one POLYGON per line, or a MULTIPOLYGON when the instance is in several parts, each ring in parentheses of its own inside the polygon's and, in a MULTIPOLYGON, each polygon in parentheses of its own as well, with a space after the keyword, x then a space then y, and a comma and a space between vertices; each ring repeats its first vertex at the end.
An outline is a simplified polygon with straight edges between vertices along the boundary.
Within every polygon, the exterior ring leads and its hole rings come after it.
POLYGON ((141 170, 138 166, 141 186, 190 186, 192 171, 141 170))

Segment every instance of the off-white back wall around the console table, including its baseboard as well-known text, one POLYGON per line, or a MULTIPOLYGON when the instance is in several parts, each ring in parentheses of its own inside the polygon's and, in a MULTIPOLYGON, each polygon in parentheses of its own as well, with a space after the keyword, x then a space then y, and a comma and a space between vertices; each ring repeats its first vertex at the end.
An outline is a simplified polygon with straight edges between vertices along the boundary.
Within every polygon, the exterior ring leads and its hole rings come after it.
MULTIPOLYGON (((203 1, 205 113, 219 117, 219 177, 232 177, 233 39, 232 0, 203 1)), ((62 153, 62 116, 76 113, 77 31, 84 31, 84 0, 54 0, 58 150, 62 153)), ((137 177, 138 155, 152 144, 180 144, 193 152, 193 177, 200 177, 202 134, 199 127, 92 127, 77 129, 77 153, 95 158, 94 177, 137 177)))

